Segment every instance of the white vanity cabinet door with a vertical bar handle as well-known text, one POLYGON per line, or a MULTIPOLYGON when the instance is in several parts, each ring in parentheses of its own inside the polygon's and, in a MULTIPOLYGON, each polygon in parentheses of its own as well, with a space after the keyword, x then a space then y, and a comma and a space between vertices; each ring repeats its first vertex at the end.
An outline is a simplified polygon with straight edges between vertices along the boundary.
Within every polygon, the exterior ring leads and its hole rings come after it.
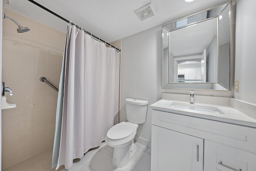
POLYGON ((204 139, 152 125, 152 171, 202 171, 204 139))

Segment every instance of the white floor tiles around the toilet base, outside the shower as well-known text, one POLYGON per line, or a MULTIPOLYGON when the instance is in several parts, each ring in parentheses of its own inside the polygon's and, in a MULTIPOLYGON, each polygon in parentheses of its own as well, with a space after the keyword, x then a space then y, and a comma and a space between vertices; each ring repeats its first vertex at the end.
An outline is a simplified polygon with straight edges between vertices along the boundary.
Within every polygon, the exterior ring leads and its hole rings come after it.
POLYGON ((89 151, 78 163, 73 163, 70 169, 62 171, 150 171, 151 149, 135 142, 138 149, 130 162, 122 167, 112 165, 113 148, 102 143, 96 150, 89 151))

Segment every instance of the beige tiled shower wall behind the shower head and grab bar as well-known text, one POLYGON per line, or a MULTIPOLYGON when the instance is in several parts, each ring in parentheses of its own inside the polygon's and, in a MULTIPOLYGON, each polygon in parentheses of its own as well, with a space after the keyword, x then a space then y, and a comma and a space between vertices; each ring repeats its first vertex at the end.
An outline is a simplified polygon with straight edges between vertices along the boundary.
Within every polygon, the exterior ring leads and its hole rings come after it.
POLYGON ((66 33, 4 8, 29 32, 3 20, 2 81, 7 102, 16 108, 2 110, 2 169, 53 147, 57 91, 40 82, 45 77, 58 87, 66 33))

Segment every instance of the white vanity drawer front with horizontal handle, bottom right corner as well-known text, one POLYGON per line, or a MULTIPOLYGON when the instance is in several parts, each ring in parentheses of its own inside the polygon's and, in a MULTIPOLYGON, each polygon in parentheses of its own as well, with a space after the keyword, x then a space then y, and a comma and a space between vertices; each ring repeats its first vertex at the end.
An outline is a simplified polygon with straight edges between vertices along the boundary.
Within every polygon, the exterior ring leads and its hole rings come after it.
POLYGON ((256 171, 256 154, 209 140, 204 141, 205 171, 256 171))

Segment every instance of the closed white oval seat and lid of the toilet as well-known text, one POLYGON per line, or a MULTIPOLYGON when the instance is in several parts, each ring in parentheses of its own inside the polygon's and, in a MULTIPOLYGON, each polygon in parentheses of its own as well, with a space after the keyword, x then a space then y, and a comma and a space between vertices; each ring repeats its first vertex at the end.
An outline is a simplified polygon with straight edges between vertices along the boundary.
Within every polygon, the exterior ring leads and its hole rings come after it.
POLYGON ((136 125, 128 122, 121 122, 108 130, 107 138, 111 141, 120 141, 126 139, 134 133, 136 125))

